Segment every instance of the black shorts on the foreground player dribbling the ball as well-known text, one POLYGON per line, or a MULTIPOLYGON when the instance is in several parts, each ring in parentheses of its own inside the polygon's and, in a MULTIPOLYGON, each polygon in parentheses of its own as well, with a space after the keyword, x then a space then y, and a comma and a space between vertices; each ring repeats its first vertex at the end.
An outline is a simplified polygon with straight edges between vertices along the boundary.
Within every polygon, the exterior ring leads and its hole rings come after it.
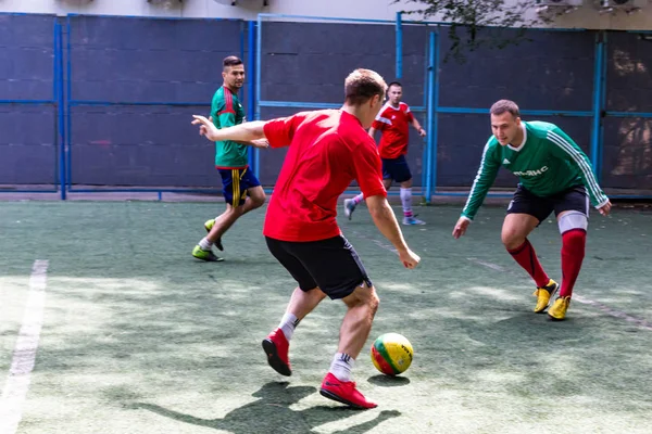
POLYGON ((358 253, 343 235, 293 242, 265 237, 267 248, 292 275, 302 291, 319 288, 330 298, 343 298, 369 280, 358 253))

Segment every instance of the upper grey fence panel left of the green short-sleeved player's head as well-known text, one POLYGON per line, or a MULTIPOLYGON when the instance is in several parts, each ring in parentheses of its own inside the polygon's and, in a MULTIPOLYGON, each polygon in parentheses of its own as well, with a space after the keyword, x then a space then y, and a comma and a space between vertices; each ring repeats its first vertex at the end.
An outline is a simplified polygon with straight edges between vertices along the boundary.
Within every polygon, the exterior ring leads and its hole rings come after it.
POLYGON ((240 55, 241 26, 230 21, 73 17, 73 99, 210 102, 222 85, 222 60, 240 55))

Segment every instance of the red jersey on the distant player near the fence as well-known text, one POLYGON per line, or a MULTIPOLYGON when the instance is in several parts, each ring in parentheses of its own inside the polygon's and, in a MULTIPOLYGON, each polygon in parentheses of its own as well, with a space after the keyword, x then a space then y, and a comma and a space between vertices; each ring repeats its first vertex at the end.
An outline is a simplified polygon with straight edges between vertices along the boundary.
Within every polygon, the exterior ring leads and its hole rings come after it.
POLYGON ((404 102, 399 103, 398 108, 385 104, 372 126, 383 132, 378 145, 381 158, 398 158, 408 153, 408 135, 413 119, 410 106, 404 102))

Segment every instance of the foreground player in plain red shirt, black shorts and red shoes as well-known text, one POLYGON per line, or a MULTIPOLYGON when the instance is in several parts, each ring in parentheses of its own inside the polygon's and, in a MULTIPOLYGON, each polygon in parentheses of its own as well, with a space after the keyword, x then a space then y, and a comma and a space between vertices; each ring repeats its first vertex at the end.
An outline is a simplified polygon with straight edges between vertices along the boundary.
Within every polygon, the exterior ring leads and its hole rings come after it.
POLYGON ((217 130, 195 116, 209 140, 248 142, 266 138, 272 148, 289 146, 265 217, 263 234, 276 259, 298 282, 280 324, 263 341, 269 366, 291 375, 289 341, 294 328, 326 296, 347 305, 340 340, 321 387, 329 399, 374 408, 351 380, 351 369, 372 329, 378 296, 360 257, 337 226, 339 195, 356 180, 380 232, 399 259, 414 268, 421 258, 405 244, 387 203, 383 171, 371 127, 383 105, 386 85, 377 73, 356 69, 344 81, 340 110, 298 113, 217 130))

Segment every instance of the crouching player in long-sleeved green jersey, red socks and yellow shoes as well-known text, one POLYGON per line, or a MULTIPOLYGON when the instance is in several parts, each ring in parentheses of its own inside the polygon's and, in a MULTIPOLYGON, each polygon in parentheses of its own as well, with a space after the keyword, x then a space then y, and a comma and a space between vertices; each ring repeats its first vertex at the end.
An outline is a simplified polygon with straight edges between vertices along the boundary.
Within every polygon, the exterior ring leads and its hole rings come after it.
POLYGON ((519 183, 507 207, 502 242, 537 284, 535 312, 546 311, 560 285, 543 271, 527 235, 554 212, 562 234, 562 285, 548 316, 563 320, 585 256, 589 201, 603 216, 611 202, 598 186, 589 158, 557 126, 522 122, 513 101, 498 101, 490 112, 493 136, 485 145, 453 237, 466 232, 501 165, 516 175, 519 183))

